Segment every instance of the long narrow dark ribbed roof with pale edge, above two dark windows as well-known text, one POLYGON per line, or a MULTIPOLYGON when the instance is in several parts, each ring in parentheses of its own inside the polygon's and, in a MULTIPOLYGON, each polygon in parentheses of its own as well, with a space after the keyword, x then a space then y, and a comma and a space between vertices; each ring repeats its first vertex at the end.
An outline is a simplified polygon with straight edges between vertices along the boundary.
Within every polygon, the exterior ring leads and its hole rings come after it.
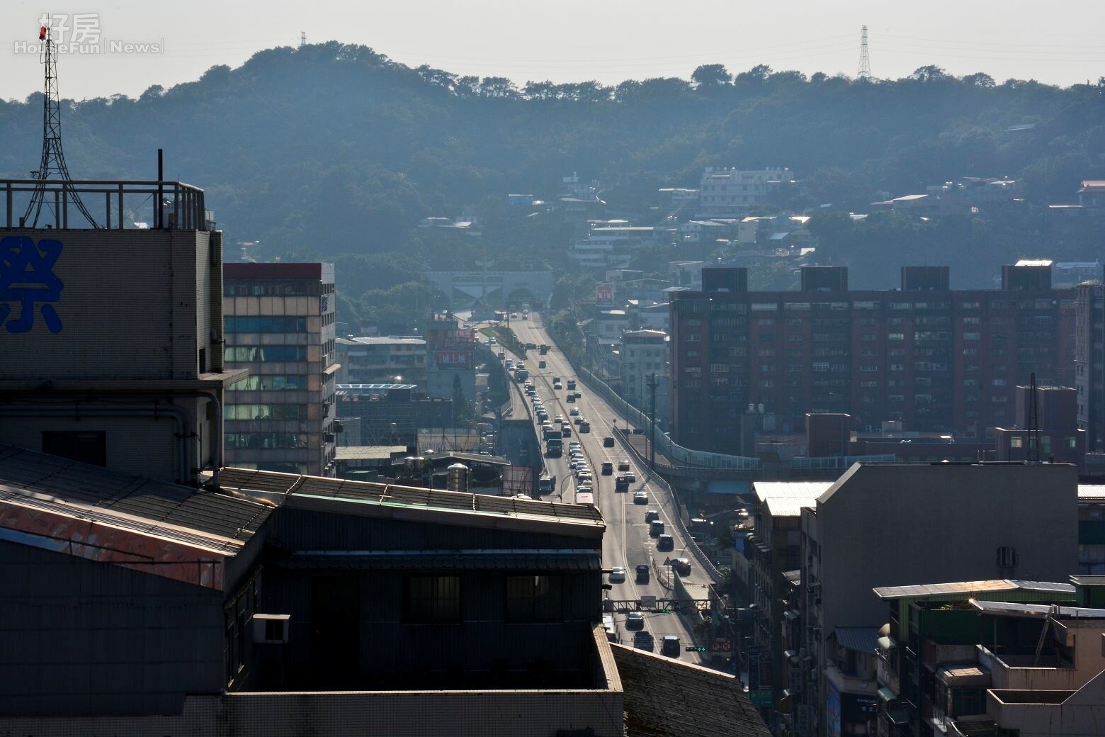
MULTIPOLYGON (((486 460, 486 456, 480 457, 486 460)), ((348 514, 366 516, 555 531, 585 537, 601 537, 602 530, 606 529, 602 514, 597 508, 575 504, 246 468, 224 468, 219 482, 223 488, 246 495, 260 495, 276 504, 325 509, 341 508, 348 514)))

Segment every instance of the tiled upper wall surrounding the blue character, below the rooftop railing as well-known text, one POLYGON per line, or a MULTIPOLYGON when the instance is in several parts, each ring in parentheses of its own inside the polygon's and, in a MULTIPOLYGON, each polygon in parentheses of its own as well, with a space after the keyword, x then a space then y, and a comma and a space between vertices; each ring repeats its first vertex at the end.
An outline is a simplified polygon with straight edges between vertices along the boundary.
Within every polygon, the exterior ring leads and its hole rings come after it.
POLYGON ((196 376, 198 350, 210 352, 211 309, 221 308, 209 269, 221 252, 212 254, 210 233, 15 230, 4 240, 21 236, 40 249, 61 242, 53 267, 40 269, 61 288, 56 301, 34 305, 29 331, 0 330, 0 379, 196 376), (56 313, 57 333, 48 328, 43 306, 56 313))

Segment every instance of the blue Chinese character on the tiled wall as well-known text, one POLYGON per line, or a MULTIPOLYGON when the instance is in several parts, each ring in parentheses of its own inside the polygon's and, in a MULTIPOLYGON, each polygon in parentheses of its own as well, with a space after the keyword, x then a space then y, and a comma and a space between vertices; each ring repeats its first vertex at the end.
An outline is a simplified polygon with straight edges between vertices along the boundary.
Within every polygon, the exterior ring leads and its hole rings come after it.
POLYGON ((62 331, 54 309, 65 287, 54 274, 61 253, 62 242, 53 239, 42 239, 38 245, 25 235, 0 239, 0 324, 8 333, 30 333, 35 308, 51 333, 62 331))

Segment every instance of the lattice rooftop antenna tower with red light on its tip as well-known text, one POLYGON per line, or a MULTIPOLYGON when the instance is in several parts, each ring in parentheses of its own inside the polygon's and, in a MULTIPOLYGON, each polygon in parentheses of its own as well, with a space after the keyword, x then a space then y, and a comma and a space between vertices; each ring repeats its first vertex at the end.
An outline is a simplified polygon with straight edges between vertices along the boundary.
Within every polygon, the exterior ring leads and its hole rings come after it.
POLYGON ((59 192, 54 190, 54 222, 65 228, 67 223, 67 204, 72 202, 76 206, 93 228, 99 228, 96 220, 84 207, 81 196, 73 187, 73 180, 69 175, 69 167, 65 166, 65 154, 62 151, 62 112, 61 101, 57 97, 57 60, 54 53, 54 42, 50 38, 50 27, 43 25, 39 29, 39 41, 41 42, 40 59, 45 69, 45 84, 42 90, 42 162, 39 170, 32 172, 38 183, 31 194, 31 203, 27 207, 27 214, 23 222, 30 228, 39 224, 39 215, 42 212, 42 204, 46 200, 46 183, 50 177, 54 176, 62 185, 59 192))

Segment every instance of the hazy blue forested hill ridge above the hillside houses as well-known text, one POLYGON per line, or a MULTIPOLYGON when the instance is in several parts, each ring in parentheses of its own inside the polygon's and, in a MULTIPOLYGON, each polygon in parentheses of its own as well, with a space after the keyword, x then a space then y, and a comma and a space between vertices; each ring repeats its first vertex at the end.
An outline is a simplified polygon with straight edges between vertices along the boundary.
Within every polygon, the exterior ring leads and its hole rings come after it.
MULTIPOLYGON (((1080 179, 1105 178, 1105 85, 937 66, 855 82, 712 65, 691 80, 517 88, 332 42, 137 99, 72 102, 63 122, 75 177, 152 179, 164 147, 167 176, 204 187, 230 240, 260 240, 265 257, 402 252, 419 218, 549 196, 572 171, 628 199, 696 187, 703 166, 788 166, 806 182, 794 204, 843 207, 957 176, 1023 178, 1031 201, 1069 202, 1080 179)), ((0 172, 36 166, 40 131, 39 94, 0 103, 0 172)))

